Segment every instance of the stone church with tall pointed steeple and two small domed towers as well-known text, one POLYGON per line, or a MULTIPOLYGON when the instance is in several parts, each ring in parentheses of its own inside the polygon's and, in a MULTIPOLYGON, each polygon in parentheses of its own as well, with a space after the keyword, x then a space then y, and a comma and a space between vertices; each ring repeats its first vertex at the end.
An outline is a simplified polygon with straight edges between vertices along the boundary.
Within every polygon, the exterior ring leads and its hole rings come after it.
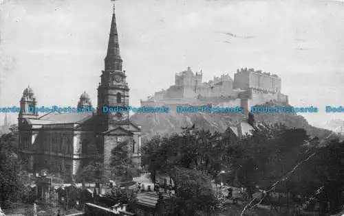
MULTIPOLYGON (((102 107, 128 107, 129 85, 122 70, 115 12, 112 14, 105 69, 97 88, 100 108, 94 112, 48 112, 39 115, 37 100, 30 86, 20 101, 19 150, 32 173, 60 173, 71 181, 78 169, 91 163, 104 164, 109 169, 111 149, 122 141, 128 142, 130 156, 140 166, 141 127, 131 123, 129 111, 103 112, 102 107)), ((87 93, 80 95, 78 108, 91 108, 87 93)), ((109 173, 111 175, 111 173, 109 173)))

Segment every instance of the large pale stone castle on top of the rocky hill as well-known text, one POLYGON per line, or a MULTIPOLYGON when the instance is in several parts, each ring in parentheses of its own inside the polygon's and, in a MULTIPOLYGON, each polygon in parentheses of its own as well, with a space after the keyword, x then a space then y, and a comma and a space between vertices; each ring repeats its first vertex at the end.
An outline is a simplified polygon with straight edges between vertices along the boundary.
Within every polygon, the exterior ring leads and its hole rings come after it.
POLYGON ((281 78, 254 69, 238 69, 234 80, 228 74, 202 82, 202 71, 191 67, 175 74, 175 84, 167 90, 156 92, 141 106, 175 106, 211 104, 212 106, 240 106, 248 111, 250 106, 278 101, 288 104, 288 96, 281 94, 281 78))

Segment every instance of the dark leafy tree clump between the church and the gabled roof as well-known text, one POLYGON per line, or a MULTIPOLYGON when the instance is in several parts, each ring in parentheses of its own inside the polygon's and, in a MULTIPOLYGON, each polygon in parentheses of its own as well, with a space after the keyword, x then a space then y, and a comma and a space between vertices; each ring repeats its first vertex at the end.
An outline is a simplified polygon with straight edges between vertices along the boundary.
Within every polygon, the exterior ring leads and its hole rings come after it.
POLYGON ((194 127, 183 129, 182 134, 154 136, 142 147, 142 164, 151 172, 153 182, 154 176, 169 173, 175 167, 205 171, 212 178, 225 169, 222 159, 228 143, 221 134, 194 127))

